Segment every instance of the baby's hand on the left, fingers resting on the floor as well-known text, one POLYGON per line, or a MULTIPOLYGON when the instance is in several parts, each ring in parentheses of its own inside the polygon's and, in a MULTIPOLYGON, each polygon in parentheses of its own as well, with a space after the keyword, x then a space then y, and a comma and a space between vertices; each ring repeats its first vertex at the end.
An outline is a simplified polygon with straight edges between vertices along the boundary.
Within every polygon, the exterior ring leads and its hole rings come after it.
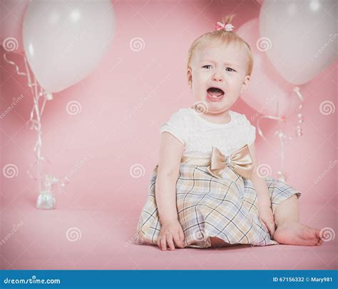
POLYGON ((170 250, 175 250, 175 244, 183 248, 184 233, 178 220, 168 220, 161 224, 160 235, 158 236, 158 247, 167 250, 167 243, 170 250))

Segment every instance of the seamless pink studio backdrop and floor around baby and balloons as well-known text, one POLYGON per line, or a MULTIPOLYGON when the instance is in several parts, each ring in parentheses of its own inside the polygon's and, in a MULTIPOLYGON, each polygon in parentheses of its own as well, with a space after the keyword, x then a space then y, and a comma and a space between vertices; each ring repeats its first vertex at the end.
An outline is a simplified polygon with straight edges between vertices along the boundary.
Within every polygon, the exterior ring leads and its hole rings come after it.
MULTIPOLYGON (((194 102, 185 78, 191 42, 231 12, 238 14, 234 24, 240 27, 259 15, 259 6, 255 1, 113 1, 113 6, 116 35, 108 55, 91 76, 55 93, 43 113, 43 156, 56 176, 71 179, 56 196, 55 211, 35 208, 36 182, 26 174, 36 142, 36 132, 25 125, 32 97, 26 78, 1 58, 1 112, 12 98, 24 96, 1 118, 1 170, 7 164, 17 168, 14 178, 1 174, 1 268, 337 269, 337 238, 319 247, 173 252, 133 243, 150 172, 158 161, 160 125, 194 102), (144 41, 140 51, 130 49, 135 37, 144 41), (70 101, 78 102, 79 113, 67 112, 70 101), (130 174, 135 164, 138 178, 130 174), (68 240, 69 228, 76 228, 78 240, 68 240)), ((24 64, 21 56, 10 57, 24 64)), ((337 106, 337 63, 302 92, 304 136, 286 146, 287 181, 302 191, 302 223, 337 232, 337 112, 319 111, 323 101, 337 106), (334 168, 327 172, 330 163, 334 168), (325 176, 316 181, 321 174, 325 176)), ((232 110, 256 124, 256 111, 242 100, 232 110)), ((289 132, 296 120, 290 116, 289 132)), ((273 176, 280 169, 276 128, 265 121, 269 142, 257 134, 256 145, 258 160, 272 168, 273 176)))

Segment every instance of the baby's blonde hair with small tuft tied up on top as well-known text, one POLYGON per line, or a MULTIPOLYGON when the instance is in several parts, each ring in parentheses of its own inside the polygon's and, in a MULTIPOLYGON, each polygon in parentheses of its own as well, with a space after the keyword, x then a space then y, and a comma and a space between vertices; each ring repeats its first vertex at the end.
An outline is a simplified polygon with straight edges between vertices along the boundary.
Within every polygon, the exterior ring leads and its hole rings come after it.
MULTIPOLYGON (((227 15, 222 19, 222 23, 231 23, 232 19, 235 17, 235 14, 227 15)), ((247 52, 247 58, 249 66, 247 68, 247 75, 251 76, 252 68, 253 68, 253 56, 250 45, 247 44, 240 36, 235 34, 234 31, 225 31, 225 29, 215 30, 208 33, 205 33, 198 37, 193 44, 191 44, 189 52, 188 52, 188 68, 191 68, 191 59, 193 58, 193 54, 200 49, 200 46, 211 42, 211 41, 220 41, 222 44, 240 44, 240 46, 244 47, 245 51, 247 52)))

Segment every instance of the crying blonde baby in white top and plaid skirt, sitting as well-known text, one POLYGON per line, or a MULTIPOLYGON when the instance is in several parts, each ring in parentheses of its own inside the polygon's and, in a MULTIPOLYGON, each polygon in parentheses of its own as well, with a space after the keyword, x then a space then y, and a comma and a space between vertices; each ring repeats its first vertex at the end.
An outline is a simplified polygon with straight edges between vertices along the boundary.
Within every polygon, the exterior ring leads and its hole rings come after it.
POLYGON ((301 193, 259 176, 255 127, 230 110, 253 67, 250 46, 231 21, 227 16, 190 47, 188 84, 195 103, 160 128, 159 161, 138 222, 138 242, 162 250, 321 245, 319 229, 299 223, 301 193))

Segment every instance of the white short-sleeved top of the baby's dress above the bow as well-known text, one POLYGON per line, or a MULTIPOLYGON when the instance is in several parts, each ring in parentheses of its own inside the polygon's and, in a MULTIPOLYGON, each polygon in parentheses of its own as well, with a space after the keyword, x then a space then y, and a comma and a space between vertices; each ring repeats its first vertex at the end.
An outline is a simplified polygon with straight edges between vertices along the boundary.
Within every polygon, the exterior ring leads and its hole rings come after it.
POLYGON ((255 141, 256 128, 246 116, 229 111, 229 123, 211 123, 193 108, 180 108, 170 120, 160 126, 160 133, 168 131, 185 145, 183 156, 210 157, 212 146, 225 156, 255 141))

